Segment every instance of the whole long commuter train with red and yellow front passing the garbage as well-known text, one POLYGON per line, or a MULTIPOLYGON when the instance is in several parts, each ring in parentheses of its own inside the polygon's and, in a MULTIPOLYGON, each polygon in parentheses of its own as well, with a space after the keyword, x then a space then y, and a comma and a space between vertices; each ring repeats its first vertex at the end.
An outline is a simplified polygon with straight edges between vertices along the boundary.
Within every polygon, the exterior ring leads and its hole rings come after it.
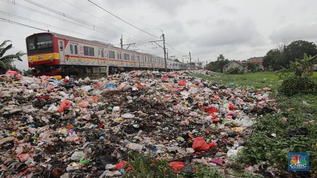
MULTIPOLYGON (((132 70, 165 70, 164 58, 117 48, 109 43, 57 33, 36 33, 26 38, 29 68, 34 76, 114 74, 132 70), (108 71, 107 71, 108 68, 108 71)), ((194 70, 167 59, 167 70, 194 70)))

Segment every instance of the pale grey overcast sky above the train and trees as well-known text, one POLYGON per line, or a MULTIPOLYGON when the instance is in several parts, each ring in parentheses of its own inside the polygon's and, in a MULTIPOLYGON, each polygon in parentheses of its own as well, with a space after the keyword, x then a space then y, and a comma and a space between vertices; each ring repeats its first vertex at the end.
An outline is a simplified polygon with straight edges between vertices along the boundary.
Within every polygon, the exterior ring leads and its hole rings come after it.
MULTIPOLYGON (((92 26, 81 24, 24 0, 15 0, 15 3, 54 17, 0 0, 2 11, 0 18, 65 35, 115 43, 116 46, 120 43, 118 35, 123 34, 124 43, 137 42, 130 49, 164 56, 160 47, 148 43, 148 41, 159 40, 158 38, 133 28, 86 0, 33 1, 87 21, 95 25, 95 30, 92 26), (30 20, 16 18, 7 13, 51 26, 32 23, 30 20), (107 35, 109 32, 111 34, 107 35)), ((283 41, 288 43, 298 39, 317 41, 317 1, 313 0, 92 1, 154 36, 160 37, 162 34, 160 29, 162 29, 166 42, 183 54, 188 54, 190 51, 194 61, 197 61, 197 58, 204 62, 213 61, 216 60, 218 54, 223 54, 229 59, 245 60, 250 57, 264 56, 268 50, 276 48, 277 44, 283 41)), ((0 41, 12 40, 15 47, 12 53, 26 52, 25 38, 39 32, 41 31, 0 21, 0 41)), ((175 55, 182 61, 182 54, 169 46, 167 48, 169 56, 175 55)), ((187 60, 187 58, 184 59, 184 61, 187 60)), ((27 69, 27 58, 24 58, 24 62, 16 62, 16 65, 19 69, 27 69)))

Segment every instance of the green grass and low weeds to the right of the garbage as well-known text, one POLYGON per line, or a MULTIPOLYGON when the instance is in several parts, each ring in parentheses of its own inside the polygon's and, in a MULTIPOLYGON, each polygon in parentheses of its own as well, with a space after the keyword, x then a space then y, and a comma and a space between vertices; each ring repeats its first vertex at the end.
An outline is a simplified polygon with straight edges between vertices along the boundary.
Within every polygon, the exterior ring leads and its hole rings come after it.
MULTIPOLYGON (((206 75, 194 76, 248 91, 258 91, 264 87, 277 90, 282 82, 282 79, 273 72, 240 75, 215 73, 215 75, 216 78, 206 75), (234 84, 230 85, 231 82, 234 84)), ((317 72, 314 73, 312 78, 317 82, 317 72)), ((289 151, 308 151, 310 154, 311 177, 317 177, 317 126, 315 121, 317 118, 317 96, 296 95, 285 97, 273 92, 270 97, 278 103, 279 112, 258 118, 252 135, 247 138, 244 149, 238 154, 235 162, 236 170, 243 170, 246 164, 254 165, 265 161, 277 167, 282 175, 295 177, 295 173, 287 172, 287 153, 289 151), (307 133, 292 135, 299 129, 307 130, 307 133), (276 137, 272 137, 272 133, 275 133, 276 137)), ((266 173, 265 171, 262 172, 263 175, 266 173)), ((309 173, 302 173, 301 176, 307 174, 309 173)))

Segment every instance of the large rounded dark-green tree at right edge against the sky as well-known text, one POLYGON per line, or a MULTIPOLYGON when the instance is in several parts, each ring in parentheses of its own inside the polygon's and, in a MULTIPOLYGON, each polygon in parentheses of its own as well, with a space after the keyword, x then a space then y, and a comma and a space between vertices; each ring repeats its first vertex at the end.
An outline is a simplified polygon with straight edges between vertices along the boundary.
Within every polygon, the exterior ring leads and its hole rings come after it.
POLYGON ((292 41, 284 48, 280 64, 285 66, 285 68, 289 68, 290 62, 302 59, 305 53, 307 56, 317 54, 316 44, 305 40, 292 41))

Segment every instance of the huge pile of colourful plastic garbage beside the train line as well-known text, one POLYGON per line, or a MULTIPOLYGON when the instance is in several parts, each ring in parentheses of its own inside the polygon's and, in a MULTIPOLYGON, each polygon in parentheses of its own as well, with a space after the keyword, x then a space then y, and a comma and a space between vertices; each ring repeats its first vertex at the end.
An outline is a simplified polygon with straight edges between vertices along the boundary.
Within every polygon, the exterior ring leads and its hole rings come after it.
POLYGON ((255 118, 274 112, 275 103, 266 90, 248 93, 189 74, 1 75, 0 176, 120 176, 131 151, 166 159, 177 172, 197 162, 230 169, 255 118))

